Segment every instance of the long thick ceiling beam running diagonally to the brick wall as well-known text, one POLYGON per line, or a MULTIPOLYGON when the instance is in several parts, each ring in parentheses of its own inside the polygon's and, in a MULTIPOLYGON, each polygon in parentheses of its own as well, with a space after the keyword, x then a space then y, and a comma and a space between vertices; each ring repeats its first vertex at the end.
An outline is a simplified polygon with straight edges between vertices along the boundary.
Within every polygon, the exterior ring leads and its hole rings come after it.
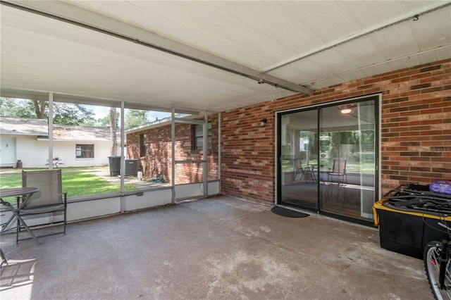
POLYGON ((252 80, 256 80, 259 84, 268 84, 273 87, 287 89, 291 92, 297 92, 307 95, 312 95, 313 90, 309 87, 297 85, 288 80, 261 73, 259 70, 249 68, 240 63, 229 61, 226 58, 216 56, 206 51, 196 49, 192 46, 176 42, 173 39, 168 39, 157 35, 154 32, 143 30, 120 20, 109 18, 105 15, 99 15, 92 11, 87 11, 84 8, 68 4, 62 1, 11 1, 0 0, 1 4, 18 8, 30 13, 37 13, 47 18, 53 18, 65 23, 85 27, 89 30, 111 35, 119 39, 125 39, 129 42, 147 46, 152 49, 164 51, 168 54, 179 56, 190 61, 209 65, 219 70, 224 70, 229 73, 244 76, 252 80))

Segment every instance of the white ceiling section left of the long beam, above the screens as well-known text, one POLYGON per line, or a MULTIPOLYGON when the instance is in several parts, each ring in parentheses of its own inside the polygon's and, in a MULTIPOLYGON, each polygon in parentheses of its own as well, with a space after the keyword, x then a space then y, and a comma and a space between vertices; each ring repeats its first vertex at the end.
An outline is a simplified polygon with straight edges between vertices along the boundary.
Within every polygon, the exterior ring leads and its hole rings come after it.
POLYGON ((41 15, 2 7, 1 86, 224 111, 293 94, 41 15), (19 83, 19 84, 18 84, 19 83), (272 98, 271 98, 272 99, 272 98))

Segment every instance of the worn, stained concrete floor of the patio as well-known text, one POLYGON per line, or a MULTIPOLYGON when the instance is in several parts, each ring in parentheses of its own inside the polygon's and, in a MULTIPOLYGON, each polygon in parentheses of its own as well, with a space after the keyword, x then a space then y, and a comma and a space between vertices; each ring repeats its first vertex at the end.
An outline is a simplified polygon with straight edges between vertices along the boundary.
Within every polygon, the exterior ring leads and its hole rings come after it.
POLYGON ((285 218, 226 196, 2 235, 5 299, 433 299, 422 261, 378 230, 285 218))

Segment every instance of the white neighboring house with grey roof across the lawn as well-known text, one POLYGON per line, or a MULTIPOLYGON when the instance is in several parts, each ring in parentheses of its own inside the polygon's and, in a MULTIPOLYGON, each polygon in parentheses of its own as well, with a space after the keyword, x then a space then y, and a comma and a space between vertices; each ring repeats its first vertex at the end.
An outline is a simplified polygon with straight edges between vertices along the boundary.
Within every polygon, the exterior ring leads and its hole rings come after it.
MULTIPOLYGON (((48 165, 47 120, 0 117, 0 166, 44 168, 48 165)), ((58 167, 108 165, 110 130, 54 124, 53 156, 58 167)))

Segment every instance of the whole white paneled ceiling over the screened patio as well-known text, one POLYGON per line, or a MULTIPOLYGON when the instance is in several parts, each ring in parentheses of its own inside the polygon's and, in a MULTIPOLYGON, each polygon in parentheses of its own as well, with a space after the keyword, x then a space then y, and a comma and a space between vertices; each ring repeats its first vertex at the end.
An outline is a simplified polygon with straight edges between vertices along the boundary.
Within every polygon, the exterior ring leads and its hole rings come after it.
POLYGON ((1 2, 2 96, 226 111, 295 93, 254 71, 305 92, 451 58, 449 1, 1 2))

